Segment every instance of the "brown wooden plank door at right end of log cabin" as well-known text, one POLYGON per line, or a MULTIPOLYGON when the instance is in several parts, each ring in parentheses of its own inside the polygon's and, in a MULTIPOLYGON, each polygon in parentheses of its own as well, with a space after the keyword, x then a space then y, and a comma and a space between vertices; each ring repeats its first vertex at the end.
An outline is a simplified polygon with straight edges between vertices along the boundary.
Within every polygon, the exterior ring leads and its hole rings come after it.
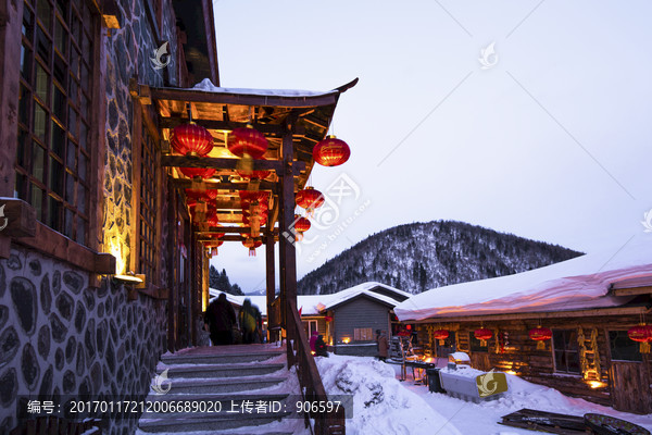
POLYGON ((642 362, 612 361, 610 377, 615 409, 641 414, 652 412, 651 380, 642 362))

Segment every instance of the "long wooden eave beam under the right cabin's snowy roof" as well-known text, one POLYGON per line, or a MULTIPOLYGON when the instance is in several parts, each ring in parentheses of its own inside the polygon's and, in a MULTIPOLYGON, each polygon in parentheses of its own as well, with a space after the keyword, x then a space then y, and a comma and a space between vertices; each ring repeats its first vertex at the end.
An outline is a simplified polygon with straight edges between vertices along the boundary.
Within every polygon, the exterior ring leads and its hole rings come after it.
POLYGON ((485 315, 456 315, 438 316, 424 320, 405 320, 402 323, 447 323, 447 322, 491 322, 498 320, 521 319, 563 319, 563 318, 590 318, 601 315, 620 314, 649 314, 652 312, 650 306, 594 308, 590 310, 552 311, 552 312, 521 312, 510 314, 485 314, 485 315))

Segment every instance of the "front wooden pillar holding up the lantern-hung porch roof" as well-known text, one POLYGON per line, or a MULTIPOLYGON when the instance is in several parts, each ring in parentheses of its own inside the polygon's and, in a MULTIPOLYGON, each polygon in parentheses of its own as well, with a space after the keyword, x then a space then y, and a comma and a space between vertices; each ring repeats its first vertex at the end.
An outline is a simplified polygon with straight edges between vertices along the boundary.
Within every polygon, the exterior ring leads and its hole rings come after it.
MULTIPOLYGON (((283 324, 288 331, 288 340, 294 337, 290 336, 291 330, 288 324, 288 302, 293 300, 297 303, 297 252, 294 251, 294 238, 290 226, 294 222, 294 175, 292 162, 294 160, 294 147, 292 144, 292 129, 294 127, 296 114, 288 115, 286 133, 283 136, 283 174, 280 176, 279 192, 279 220, 278 220, 278 249, 280 263, 280 296, 281 296, 281 319, 283 324), (289 236, 289 237, 287 237, 289 236)), ((288 341, 289 343, 289 341, 288 341)))

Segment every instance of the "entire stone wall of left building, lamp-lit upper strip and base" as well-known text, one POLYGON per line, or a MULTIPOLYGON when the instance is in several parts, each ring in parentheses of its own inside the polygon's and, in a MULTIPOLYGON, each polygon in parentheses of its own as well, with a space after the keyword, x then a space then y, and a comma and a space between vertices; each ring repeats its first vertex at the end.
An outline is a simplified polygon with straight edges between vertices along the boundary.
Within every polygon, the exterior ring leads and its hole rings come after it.
MULTIPOLYGON (((176 26, 171 1, 163 5, 161 39, 172 51, 168 67, 155 70, 150 58, 155 40, 145 1, 118 0, 122 28, 103 36, 106 108, 104 182, 100 250, 120 247, 130 262, 133 203, 131 138, 134 103, 130 78, 150 86, 178 85, 176 26), (113 246, 112 246, 113 243, 113 246)), ((104 29, 105 30, 105 29, 104 29)), ((165 189, 165 186, 161 186, 165 189)), ((165 192, 163 194, 165 195, 165 192)), ((166 216, 165 208, 160 210, 166 216)), ((163 220, 161 239, 167 238, 163 220)), ((161 281, 168 282, 170 259, 163 258, 161 281)), ((89 275, 67 263, 12 246, 0 260, 0 433, 17 423, 18 396, 86 395, 143 397, 166 344, 166 302, 139 295, 127 301, 126 289, 108 278, 89 287, 89 275)), ((137 420, 106 422, 105 433, 131 434, 137 420)))

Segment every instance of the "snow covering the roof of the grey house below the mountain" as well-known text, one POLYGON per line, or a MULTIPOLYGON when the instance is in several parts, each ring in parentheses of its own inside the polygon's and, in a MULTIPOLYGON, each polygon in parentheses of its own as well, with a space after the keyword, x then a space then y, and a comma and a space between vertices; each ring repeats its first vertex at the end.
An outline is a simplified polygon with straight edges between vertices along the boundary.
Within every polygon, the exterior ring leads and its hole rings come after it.
MULTIPOLYGON (((410 297, 411 294, 406 291, 399 290, 398 288, 388 286, 386 284, 377 283, 377 282, 368 282, 359 284, 356 286, 343 289, 341 291, 331 294, 331 295, 299 295, 297 296, 297 308, 301 309, 301 315, 318 315, 322 311, 329 309, 330 307, 335 307, 341 302, 344 302, 349 299, 352 299, 359 295, 366 295, 374 299, 380 300, 386 303, 390 303, 391 306, 396 306, 399 303, 397 299, 393 299, 386 295, 380 295, 378 293, 372 291, 376 287, 383 287, 384 289, 394 291, 397 295, 403 297, 410 297)), ((222 291, 216 290, 214 288, 210 288, 209 293, 211 295, 211 299, 220 296, 222 291)), ((234 296, 226 294, 226 299, 237 306, 242 306, 244 299, 251 299, 251 303, 258 306, 263 315, 267 315, 267 297, 266 296, 258 296, 258 295, 244 295, 244 296, 234 296)))

